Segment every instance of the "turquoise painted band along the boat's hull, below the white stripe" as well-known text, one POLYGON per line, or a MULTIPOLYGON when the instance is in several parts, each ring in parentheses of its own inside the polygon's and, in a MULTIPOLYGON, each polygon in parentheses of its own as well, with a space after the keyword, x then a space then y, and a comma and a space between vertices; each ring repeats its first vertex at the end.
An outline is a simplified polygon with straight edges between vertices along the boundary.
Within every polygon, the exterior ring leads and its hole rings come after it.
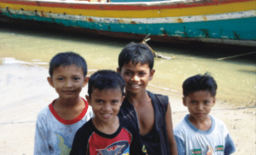
POLYGON ((106 24, 78 20, 52 20, 50 18, 22 14, 3 14, 10 18, 53 22, 61 26, 79 26, 91 30, 107 32, 127 32, 173 37, 208 37, 234 40, 256 40, 256 17, 235 20, 202 21, 175 24, 106 24), (230 31, 231 30, 231 31, 230 31), (179 33, 177 33, 179 32, 179 33))

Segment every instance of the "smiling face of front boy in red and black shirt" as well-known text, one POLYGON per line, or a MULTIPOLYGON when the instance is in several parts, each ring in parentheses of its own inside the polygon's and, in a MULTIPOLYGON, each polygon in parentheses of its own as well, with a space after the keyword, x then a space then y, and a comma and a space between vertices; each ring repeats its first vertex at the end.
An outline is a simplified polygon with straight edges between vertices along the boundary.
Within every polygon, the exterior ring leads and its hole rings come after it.
POLYGON ((125 96, 120 89, 93 89, 86 99, 92 107, 96 123, 109 124, 116 119, 125 96))

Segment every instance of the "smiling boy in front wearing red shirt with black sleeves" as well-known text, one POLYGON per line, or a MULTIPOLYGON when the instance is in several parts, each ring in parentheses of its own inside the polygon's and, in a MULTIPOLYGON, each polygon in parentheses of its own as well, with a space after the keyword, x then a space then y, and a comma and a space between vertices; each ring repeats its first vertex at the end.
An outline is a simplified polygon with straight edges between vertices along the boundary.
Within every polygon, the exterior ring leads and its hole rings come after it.
POLYGON ((95 117, 78 130, 71 155, 147 154, 135 126, 117 116, 125 98, 124 88, 125 81, 118 72, 103 70, 90 76, 86 99, 95 117))

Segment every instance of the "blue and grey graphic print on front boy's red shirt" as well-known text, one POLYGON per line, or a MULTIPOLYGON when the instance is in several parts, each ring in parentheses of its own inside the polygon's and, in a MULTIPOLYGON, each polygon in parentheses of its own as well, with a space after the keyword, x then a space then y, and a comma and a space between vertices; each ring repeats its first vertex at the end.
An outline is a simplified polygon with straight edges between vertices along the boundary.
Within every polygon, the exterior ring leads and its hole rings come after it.
POLYGON ((96 149, 97 155, 129 155, 129 142, 128 141, 117 141, 110 146, 103 149, 96 149))

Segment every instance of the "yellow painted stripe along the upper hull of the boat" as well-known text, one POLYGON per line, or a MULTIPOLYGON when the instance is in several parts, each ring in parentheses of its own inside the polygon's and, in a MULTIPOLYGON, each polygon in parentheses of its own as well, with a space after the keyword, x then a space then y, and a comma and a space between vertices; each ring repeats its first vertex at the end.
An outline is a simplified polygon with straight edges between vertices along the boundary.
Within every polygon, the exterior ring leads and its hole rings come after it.
MULTIPOLYGON (((88 3, 92 4, 92 3, 88 3)), ((102 3, 100 3, 102 5, 102 3)), ((84 4, 86 5, 86 4, 84 4)), ((96 5, 96 4, 95 4, 96 5)), ((9 9, 24 9, 24 11, 35 11, 54 13, 54 14, 73 14, 96 17, 115 17, 115 18, 160 18, 160 17, 177 17, 193 16, 204 14, 225 14, 230 12, 240 12, 256 9, 256 1, 241 3, 224 3, 218 5, 206 5, 201 7, 188 7, 181 9, 148 9, 148 10, 95 10, 95 9, 67 9, 38 7, 24 4, 0 3, 0 7, 9 9)), ((119 7, 119 6, 117 6, 119 7)))

